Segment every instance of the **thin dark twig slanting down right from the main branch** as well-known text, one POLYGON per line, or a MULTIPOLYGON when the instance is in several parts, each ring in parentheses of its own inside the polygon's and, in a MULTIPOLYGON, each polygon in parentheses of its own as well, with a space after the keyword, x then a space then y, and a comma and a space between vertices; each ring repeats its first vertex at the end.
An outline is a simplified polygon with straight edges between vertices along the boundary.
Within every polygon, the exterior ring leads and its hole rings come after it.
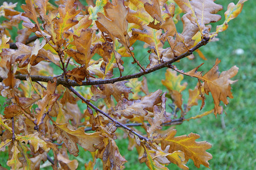
POLYGON ((120 122, 118 122, 117 120, 115 120, 113 117, 109 116, 108 113, 105 113, 103 111, 101 111, 101 109, 97 108, 95 105, 93 105, 92 103, 90 103, 89 100, 86 100, 82 95, 79 94, 79 92, 77 92, 73 87, 68 87, 68 89, 70 91, 73 92, 73 94, 75 94, 77 97, 79 97, 82 101, 84 101, 87 105, 89 105, 90 107, 92 107, 95 111, 100 112, 101 114, 103 114, 104 116, 108 117, 110 120, 112 120, 115 124, 121 126, 122 128, 129 130, 131 133, 137 135, 140 139, 148 142, 150 141, 147 137, 143 137, 143 135, 138 134, 136 131, 134 131, 133 129, 129 128, 126 125, 121 124, 120 122))

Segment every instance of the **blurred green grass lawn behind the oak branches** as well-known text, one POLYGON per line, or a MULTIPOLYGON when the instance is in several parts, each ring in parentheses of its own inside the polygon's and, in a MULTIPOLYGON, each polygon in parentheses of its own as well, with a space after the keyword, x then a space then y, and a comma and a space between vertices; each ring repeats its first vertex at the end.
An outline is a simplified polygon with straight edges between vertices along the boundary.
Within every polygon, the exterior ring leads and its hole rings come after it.
MULTIPOLYGON (((0 1, 2 5, 3 1, 0 1)), ((16 1, 8 1, 16 2, 16 1)), ((52 2, 52 1, 51 1, 52 2)), ((228 4, 232 2, 230 0, 216 1, 216 3, 224 6, 224 10, 219 12, 224 16, 224 12, 228 4)), ((234 1, 237 3, 238 1, 234 1)), ((24 1, 18 1, 17 10, 21 10, 20 5, 24 1)), ((233 78, 238 79, 238 82, 232 84, 233 99, 229 99, 230 104, 226 107, 224 106, 224 114, 217 116, 215 118, 214 114, 209 116, 191 120, 189 122, 184 122, 182 125, 178 125, 177 135, 189 134, 191 132, 201 135, 198 141, 208 141, 213 146, 208 152, 213 155, 213 159, 209 160, 210 168, 212 169, 254 169, 256 166, 256 135, 255 135, 255 95, 256 95, 256 67, 255 67, 255 7, 256 1, 250 0, 245 2, 243 10, 238 18, 232 20, 229 23, 229 28, 225 32, 221 32, 218 36, 220 39, 217 42, 210 42, 208 45, 203 46, 200 50, 204 53, 207 61, 203 61, 197 54, 194 60, 189 60, 188 58, 182 59, 182 62, 177 63, 176 66, 184 71, 189 71, 205 62, 200 70, 205 70, 206 73, 213 65, 216 58, 221 59, 219 64, 219 71, 225 71, 230 69, 230 67, 236 65, 238 66, 239 72, 233 78)), ((224 18, 217 24, 213 24, 213 29, 218 24, 222 24, 224 18)), ((181 24, 179 24, 181 25, 181 24)), ((15 28, 14 28, 15 32, 15 28)), ((15 36, 15 35, 14 35, 15 36)), ((137 43, 135 46, 135 56, 143 64, 148 63, 148 53, 147 49, 142 50, 143 43, 137 43)), ((125 58, 125 62, 131 62, 131 58, 125 58)), ((138 71, 138 67, 134 65, 129 65, 126 67, 125 74, 135 73, 138 71), (127 69, 129 68, 129 69, 127 69)), ((148 88, 150 92, 156 91, 160 88, 163 91, 167 91, 166 88, 161 83, 161 79, 164 79, 164 73, 166 69, 156 71, 155 73, 148 74, 148 88)), ((190 88, 196 86, 197 79, 191 77, 184 77, 183 82, 189 82, 190 88)), ((188 90, 188 88, 187 88, 188 90)), ((3 97, 1 99, 1 105, 5 102, 3 97)), ((188 92, 183 94, 184 103, 188 99, 188 92)), ((167 101, 171 103, 171 101, 167 101)), ((196 114, 201 114, 204 111, 208 111, 213 108, 213 101, 211 96, 207 96, 207 103, 203 111, 200 111, 199 107, 193 108, 187 117, 194 116, 196 114)), ((3 109, 1 113, 3 113, 3 109)), ((167 108, 167 111, 171 111, 167 108)), ((127 151, 128 140, 123 140, 123 131, 119 129, 117 131, 120 134, 120 138, 116 140, 119 147, 121 155, 125 157, 128 162, 125 164, 125 169, 147 169, 146 164, 140 164, 138 161, 137 151, 127 151)), ((88 152, 80 150, 80 155, 73 159, 79 161, 79 169, 84 169, 84 163, 88 163, 91 158, 88 152)), ((51 155, 51 153, 50 153, 51 155)), ((7 162, 8 154, 5 152, 0 152, 0 163, 4 166, 7 162)), ((101 169, 101 162, 97 160, 97 167, 101 169)), ((197 169, 193 162, 189 160, 188 167, 190 169, 197 169)), ((168 165, 170 169, 179 169, 175 164, 168 165)), ((200 169, 208 169, 202 167, 200 169)))

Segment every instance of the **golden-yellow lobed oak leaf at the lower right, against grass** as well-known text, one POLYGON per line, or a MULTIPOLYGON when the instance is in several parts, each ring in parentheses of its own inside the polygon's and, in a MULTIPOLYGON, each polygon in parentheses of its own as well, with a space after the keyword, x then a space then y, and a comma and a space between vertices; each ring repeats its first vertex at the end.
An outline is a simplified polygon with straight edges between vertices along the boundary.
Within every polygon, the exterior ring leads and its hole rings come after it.
POLYGON ((190 133, 189 135, 181 135, 175 137, 176 130, 170 131, 162 139, 157 139, 161 143, 161 148, 164 150, 167 146, 170 146, 169 152, 182 151, 185 154, 185 161, 192 159, 197 168, 200 168, 200 164, 209 168, 208 160, 212 159, 212 155, 206 152, 212 147, 210 143, 196 142, 196 139, 200 138, 199 134, 190 133))

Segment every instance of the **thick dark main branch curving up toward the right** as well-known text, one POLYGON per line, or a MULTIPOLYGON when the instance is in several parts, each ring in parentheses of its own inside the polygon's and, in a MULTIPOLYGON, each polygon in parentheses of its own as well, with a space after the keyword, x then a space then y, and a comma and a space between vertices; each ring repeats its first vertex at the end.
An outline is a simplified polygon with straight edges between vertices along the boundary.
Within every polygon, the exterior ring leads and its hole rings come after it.
MULTIPOLYGON (((144 71, 140 71, 139 73, 135 73, 135 74, 130 74, 130 75, 126 75, 126 76, 120 76, 118 78, 111 78, 111 79, 100 79, 100 80, 90 80, 88 82, 86 81, 82 81, 82 84, 78 84, 73 80, 65 80, 64 78, 58 78, 57 79, 57 84, 62 84, 63 86, 90 86, 90 85, 96 85, 96 84, 109 84, 109 83, 115 83, 115 82, 121 82, 123 80, 129 80, 129 79, 133 79, 133 78, 139 78, 142 75, 146 75, 149 73, 152 73, 156 70, 159 69, 163 69, 164 67, 170 67, 172 63, 178 61, 179 59, 182 59, 184 57, 187 57, 189 55, 191 55, 196 49, 199 49, 201 46, 206 45, 209 42, 210 38, 209 37, 205 37, 204 39, 202 39, 196 46, 194 46, 193 48, 191 48, 189 51, 181 54, 180 56, 177 56, 175 58, 172 58, 170 61, 166 61, 163 63, 160 63, 159 65, 156 65, 154 67, 151 67, 150 69, 146 69, 144 71)), ((26 80, 26 76, 27 75, 23 75, 23 74, 18 74, 15 75, 16 79, 20 79, 20 80, 26 80)), ((40 76, 40 75, 30 75, 31 76, 31 80, 32 82, 48 82, 51 81, 53 82, 53 76, 40 76)), ((3 78, 0 77, 0 82, 2 82, 3 78)))

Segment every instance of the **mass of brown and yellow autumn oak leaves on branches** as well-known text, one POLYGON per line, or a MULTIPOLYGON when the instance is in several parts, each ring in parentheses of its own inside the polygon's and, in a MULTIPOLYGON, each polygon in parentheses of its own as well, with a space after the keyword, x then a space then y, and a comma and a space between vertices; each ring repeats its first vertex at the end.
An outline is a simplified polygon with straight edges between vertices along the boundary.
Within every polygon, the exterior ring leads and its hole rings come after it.
POLYGON ((6 18, 0 25, 0 90, 6 106, 0 115, 0 150, 8 148, 7 165, 39 169, 48 159, 53 169, 76 169, 78 162, 69 154, 79 156, 81 146, 93 157, 86 169, 93 168, 96 159, 101 159, 104 169, 123 169, 127 160, 115 143, 121 138, 116 133, 121 127, 129 139, 128 149, 135 147, 139 162, 150 169, 167 169, 170 163, 188 169, 189 159, 197 168, 209 167, 210 143, 197 142, 199 134, 175 136, 175 129, 162 127, 222 114, 220 103, 226 105, 227 97, 233 97, 230 84, 236 82, 231 78, 238 67, 219 73, 216 59, 205 74, 198 71, 202 64, 185 73, 173 63, 193 59, 193 52, 206 59, 199 48, 217 40, 244 2, 230 3, 224 23, 214 32, 210 23, 221 19, 217 12, 222 6, 213 0, 87 0, 86 5, 78 0, 59 0, 54 5, 48 0, 26 0, 21 6, 24 12, 4 2, 0 7, 0 16, 6 18), (182 32, 176 28, 179 20, 182 32), (11 40, 9 31, 19 24, 22 29, 11 40), (133 52, 136 41, 148 48, 145 66, 133 52), (123 57, 132 58, 139 72, 123 75, 129 69, 123 57), (143 75, 164 67, 168 69, 162 84, 168 92, 149 92, 143 75), (53 74, 53 69, 61 74, 53 74), (189 89, 187 103, 181 94, 187 89, 187 83, 181 84, 183 75, 198 80, 189 89), (188 117, 199 100, 204 107, 205 95, 212 96, 214 109, 188 117), (86 105, 82 112, 80 100, 86 105), (172 112, 167 112, 167 100, 172 101, 172 112), (133 128, 137 125, 143 131, 133 128))

